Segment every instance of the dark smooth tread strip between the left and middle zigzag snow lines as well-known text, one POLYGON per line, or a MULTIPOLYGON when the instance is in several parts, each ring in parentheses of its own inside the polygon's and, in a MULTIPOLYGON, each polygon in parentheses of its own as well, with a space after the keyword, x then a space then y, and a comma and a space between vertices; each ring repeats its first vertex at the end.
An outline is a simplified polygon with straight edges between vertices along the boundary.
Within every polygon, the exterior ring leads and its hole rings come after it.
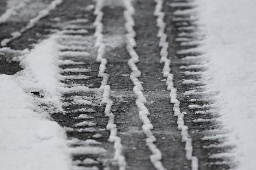
POLYGON ((150 151, 145 145, 145 135, 140 129, 142 124, 138 119, 136 97, 129 79, 130 69, 127 62, 130 57, 125 44, 124 7, 122 1, 118 2, 103 8, 105 58, 108 60, 106 72, 110 75, 112 112, 118 128, 117 134, 122 138, 126 169, 154 169, 149 160, 150 151))

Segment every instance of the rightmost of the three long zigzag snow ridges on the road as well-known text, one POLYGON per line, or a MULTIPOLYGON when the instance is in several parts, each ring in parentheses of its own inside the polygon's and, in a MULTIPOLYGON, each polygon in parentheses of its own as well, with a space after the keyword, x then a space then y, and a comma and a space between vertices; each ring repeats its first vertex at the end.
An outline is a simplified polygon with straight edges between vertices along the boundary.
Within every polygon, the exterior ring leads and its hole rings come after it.
MULTIPOLYGON (((164 22, 164 12, 162 11, 162 7, 164 4, 163 0, 155 0, 156 6, 155 6, 155 11, 154 15, 157 16, 156 19, 156 26, 158 26, 159 31, 158 31, 158 37, 160 38, 159 46, 161 47, 161 52, 160 52, 160 63, 164 63, 164 68, 163 68, 163 76, 167 78, 166 80, 166 86, 167 90, 170 90, 170 97, 171 97, 171 103, 174 104, 173 111, 174 115, 178 116, 178 129, 181 130, 181 136, 182 136, 182 142, 186 142, 185 150, 186 150, 186 159, 191 160, 191 169, 192 170, 198 170, 198 158, 193 156, 192 151, 192 139, 188 135, 188 127, 184 125, 184 114, 186 112, 180 112, 180 101, 177 100, 177 89, 174 88, 174 83, 173 83, 173 74, 170 73, 171 68, 171 60, 167 58, 168 56, 168 42, 166 41, 167 35, 165 34, 165 22, 164 22)), ((176 6, 182 6, 182 3, 172 3, 172 5, 176 6)), ((187 4, 186 4, 187 5, 187 4)), ((184 6, 184 5, 183 5, 184 6)), ((182 7, 183 7, 182 6, 182 7)))

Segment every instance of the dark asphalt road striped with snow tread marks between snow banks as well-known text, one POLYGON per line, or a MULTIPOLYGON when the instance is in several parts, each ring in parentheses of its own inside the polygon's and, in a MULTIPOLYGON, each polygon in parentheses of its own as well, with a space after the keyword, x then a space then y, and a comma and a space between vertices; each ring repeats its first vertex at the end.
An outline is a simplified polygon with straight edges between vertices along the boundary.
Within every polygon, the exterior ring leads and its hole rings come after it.
POLYGON ((51 117, 66 129, 74 169, 229 169, 218 154, 232 147, 218 146, 224 134, 205 98, 214 94, 204 94, 200 81, 203 33, 193 7, 186 0, 63 1, 27 30, 34 16, 10 16, 0 24, 0 41, 11 38, 6 47, 14 51, 0 54, 0 73, 22 70, 6 59, 58 35, 69 90, 63 111, 51 117))

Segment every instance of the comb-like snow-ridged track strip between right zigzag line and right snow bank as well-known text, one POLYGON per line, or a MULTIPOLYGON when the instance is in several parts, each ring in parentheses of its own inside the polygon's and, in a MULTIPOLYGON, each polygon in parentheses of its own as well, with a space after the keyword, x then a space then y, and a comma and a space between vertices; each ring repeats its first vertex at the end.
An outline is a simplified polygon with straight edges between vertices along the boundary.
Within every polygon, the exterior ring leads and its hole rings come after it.
POLYGON ((232 158, 226 152, 233 146, 223 145, 226 132, 214 119, 218 116, 211 100, 214 94, 204 91, 201 80, 207 60, 200 47, 204 35, 197 25, 196 5, 192 0, 170 1, 165 11, 168 13, 166 23, 172 29, 166 33, 175 35, 169 36, 170 41, 175 42, 175 51, 169 50, 176 55, 171 63, 172 72, 177 73, 174 86, 179 89, 180 108, 187 113, 184 121, 193 139, 193 155, 199 159, 199 169, 230 169, 232 158), (178 80, 182 80, 181 83, 178 80))

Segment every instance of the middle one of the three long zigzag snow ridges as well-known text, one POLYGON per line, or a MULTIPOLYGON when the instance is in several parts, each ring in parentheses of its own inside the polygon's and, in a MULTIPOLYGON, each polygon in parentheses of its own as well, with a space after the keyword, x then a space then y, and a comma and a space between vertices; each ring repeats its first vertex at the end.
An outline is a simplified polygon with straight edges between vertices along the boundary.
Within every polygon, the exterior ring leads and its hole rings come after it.
POLYGON ((125 28, 127 31, 126 50, 131 57, 130 60, 128 61, 128 65, 132 70, 132 73, 130 74, 130 80, 132 80, 134 85, 133 92, 137 96, 136 105, 139 109, 139 117, 143 121, 142 129, 144 134, 146 135, 146 145, 148 146, 149 150, 152 153, 150 155, 150 161, 157 170, 166 170, 161 163, 162 153, 154 144, 156 138, 151 132, 151 129, 153 129, 153 125, 151 124, 149 118, 147 117, 149 115, 149 111, 144 105, 144 103, 146 103, 146 99, 142 93, 142 84, 138 80, 138 77, 140 77, 141 73, 135 64, 139 61, 139 56, 134 50, 134 47, 136 46, 136 41, 134 39, 136 33, 133 29, 133 26, 135 25, 133 20, 133 14, 135 10, 132 5, 132 0, 124 0, 123 2, 124 7, 126 8, 126 10, 124 11, 124 18, 126 19, 125 28))

